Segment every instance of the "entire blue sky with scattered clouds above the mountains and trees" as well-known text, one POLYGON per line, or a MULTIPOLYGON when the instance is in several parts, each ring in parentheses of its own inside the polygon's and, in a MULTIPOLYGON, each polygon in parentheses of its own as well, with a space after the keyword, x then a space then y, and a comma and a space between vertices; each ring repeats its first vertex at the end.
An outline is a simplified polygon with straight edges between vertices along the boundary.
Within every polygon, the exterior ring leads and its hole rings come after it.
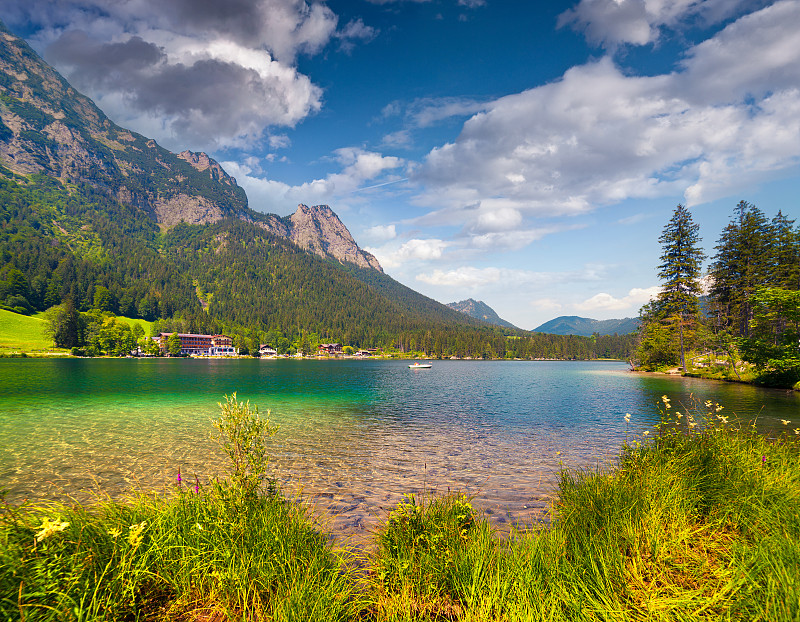
POLYGON ((531 329, 635 316, 678 203, 800 218, 800 0, 10 0, 117 123, 402 283, 531 329))

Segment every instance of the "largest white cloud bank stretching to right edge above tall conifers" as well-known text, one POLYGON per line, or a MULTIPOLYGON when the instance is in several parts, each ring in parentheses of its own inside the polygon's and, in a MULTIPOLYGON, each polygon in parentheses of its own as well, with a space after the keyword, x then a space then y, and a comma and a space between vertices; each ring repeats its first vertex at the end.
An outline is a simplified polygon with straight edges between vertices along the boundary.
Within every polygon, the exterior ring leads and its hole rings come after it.
POLYGON ((436 207, 431 220, 479 232, 514 214, 574 216, 629 198, 684 193, 693 205, 790 170, 798 31, 800 1, 783 0, 695 46, 672 73, 632 76, 604 57, 485 104, 416 168, 416 201, 436 207))

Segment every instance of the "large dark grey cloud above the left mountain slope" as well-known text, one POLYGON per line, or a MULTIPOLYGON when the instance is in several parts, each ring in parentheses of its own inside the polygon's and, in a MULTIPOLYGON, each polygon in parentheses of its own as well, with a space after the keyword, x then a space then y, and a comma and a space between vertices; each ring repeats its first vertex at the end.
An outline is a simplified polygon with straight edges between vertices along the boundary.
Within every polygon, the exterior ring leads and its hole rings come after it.
POLYGON ((34 46, 109 116, 174 149, 251 146, 294 127, 322 106, 297 55, 376 34, 360 20, 337 30, 330 8, 305 0, 7 4, 4 17, 33 25, 34 46))

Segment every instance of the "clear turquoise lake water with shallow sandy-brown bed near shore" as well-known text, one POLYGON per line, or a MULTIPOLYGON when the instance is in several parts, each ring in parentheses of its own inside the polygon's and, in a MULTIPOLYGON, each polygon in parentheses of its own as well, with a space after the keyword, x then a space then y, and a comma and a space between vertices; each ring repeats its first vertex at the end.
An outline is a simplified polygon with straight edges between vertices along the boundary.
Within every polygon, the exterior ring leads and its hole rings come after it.
POLYGON ((656 404, 718 401, 734 422, 800 427, 796 393, 631 374, 623 363, 293 360, 0 360, 0 489, 7 499, 164 490, 223 462, 208 435, 236 391, 281 426, 284 488, 347 534, 404 493, 460 490, 496 525, 541 519, 560 463, 612 461, 656 404), (631 413, 627 427, 624 415, 631 413))

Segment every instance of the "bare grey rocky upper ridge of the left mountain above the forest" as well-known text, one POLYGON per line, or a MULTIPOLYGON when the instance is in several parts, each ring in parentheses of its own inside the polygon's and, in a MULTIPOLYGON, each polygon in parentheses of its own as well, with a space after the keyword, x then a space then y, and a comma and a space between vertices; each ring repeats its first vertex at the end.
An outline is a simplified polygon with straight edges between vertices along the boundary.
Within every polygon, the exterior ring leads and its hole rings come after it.
POLYGON ((2 23, 0 163, 17 175, 88 185, 164 229, 238 218, 320 257, 382 271, 327 205, 301 205, 286 218, 249 209, 219 163, 205 153, 174 154, 119 127, 2 23))

